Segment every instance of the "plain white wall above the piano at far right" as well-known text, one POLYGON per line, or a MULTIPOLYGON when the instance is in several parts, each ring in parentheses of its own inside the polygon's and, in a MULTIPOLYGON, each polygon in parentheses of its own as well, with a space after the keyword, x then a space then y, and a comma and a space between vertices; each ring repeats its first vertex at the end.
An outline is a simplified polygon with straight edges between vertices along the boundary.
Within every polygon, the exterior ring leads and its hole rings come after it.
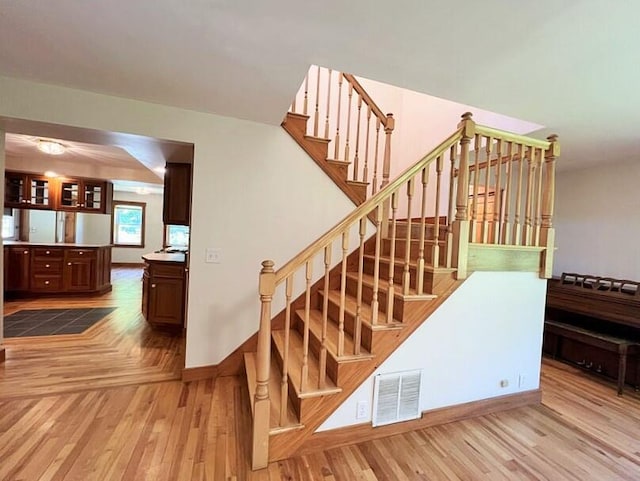
POLYGON ((557 173, 554 275, 640 280, 639 185, 637 160, 557 173))

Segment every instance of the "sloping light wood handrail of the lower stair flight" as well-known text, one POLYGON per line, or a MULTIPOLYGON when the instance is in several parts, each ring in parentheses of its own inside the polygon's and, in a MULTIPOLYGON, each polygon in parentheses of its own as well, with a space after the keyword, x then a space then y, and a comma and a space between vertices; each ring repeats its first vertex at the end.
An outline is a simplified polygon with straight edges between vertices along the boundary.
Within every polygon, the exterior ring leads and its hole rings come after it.
POLYGON ((409 179, 415 176, 420 170, 429 163, 438 158, 438 156, 444 154, 447 149, 460 140, 462 137, 462 128, 456 130, 447 139, 441 142, 435 149, 425 155, 418 162, 406 169, 400 174, 393 182, 387 184, 382 190, 380 190, 373 197, 367 199, 363 204, 360 204, 355 210, 353 210, 344 219, 338 222, 335 226, 325 232, 319 239, 309 244, 302 252, 283 265, 275 272, 276 285, 280 284, 291 273, 295 272, 300 266, 307 262, 319 249, 328 245, 329 242, 337 238, 337 236, 347 227, 353 225, 361 217, 368 214, 373 208, 381 201, 390 197, 390 195, 398 188, 400 188, 409 179))

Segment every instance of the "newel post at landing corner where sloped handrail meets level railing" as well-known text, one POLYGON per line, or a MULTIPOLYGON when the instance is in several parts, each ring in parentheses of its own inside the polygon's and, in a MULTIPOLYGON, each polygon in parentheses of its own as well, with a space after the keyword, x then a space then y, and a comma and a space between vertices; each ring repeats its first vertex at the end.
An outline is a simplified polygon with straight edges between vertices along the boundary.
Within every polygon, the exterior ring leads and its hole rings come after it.
POLYGON ((471 112, 462 114, 458 128, 462 129, 460 139, 460 163, 458 164, 458 186, 456 196, 456 218, 453 222, 453 266, 458 279, 467 277, 467 257, 469 254, 469 143, 476 133, 476 123, 471 112))

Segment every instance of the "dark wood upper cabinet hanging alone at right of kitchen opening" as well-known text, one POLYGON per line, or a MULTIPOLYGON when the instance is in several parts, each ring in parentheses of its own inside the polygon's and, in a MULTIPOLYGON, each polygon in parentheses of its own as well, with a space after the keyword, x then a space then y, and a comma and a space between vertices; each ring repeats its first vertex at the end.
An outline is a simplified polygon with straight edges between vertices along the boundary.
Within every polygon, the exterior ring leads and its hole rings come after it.
POLYGON ((189 225, 191 218, 191 164, 167 163, 164 173, 165 224, 189 225))

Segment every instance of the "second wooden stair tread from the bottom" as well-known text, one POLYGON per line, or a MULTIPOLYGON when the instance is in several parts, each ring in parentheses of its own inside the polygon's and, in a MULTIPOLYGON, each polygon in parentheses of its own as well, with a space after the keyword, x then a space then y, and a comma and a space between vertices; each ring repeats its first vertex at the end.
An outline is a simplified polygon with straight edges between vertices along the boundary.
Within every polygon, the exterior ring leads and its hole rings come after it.
MULTIPOLYGON (((284 353, 285 331, 280 329, 273 331, 273 342, 280 353, 284 353)), ((302 336, 295 329, 289 330, 289 378, 298 398, 325 396, 342 391, 331 379, 325 376, 324 387, 318 388, 319 366, 318 359, 309 350, 307 357, 308 376, 307 382, 302 385, 302 336)))

